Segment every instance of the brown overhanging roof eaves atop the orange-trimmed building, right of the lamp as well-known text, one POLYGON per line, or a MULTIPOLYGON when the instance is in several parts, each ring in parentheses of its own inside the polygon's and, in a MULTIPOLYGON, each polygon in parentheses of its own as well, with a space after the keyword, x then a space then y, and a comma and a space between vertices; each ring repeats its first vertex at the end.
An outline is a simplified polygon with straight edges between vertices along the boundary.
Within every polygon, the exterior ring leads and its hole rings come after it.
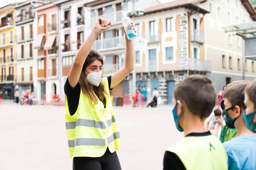
POLYGON ((167 11, 170 9, 176 9, 176 8, 182 8, 182 7, 196 9, 201 13, 209 13, 209 11, 195 5, 197 3, 204 3, 205 1, 207 0, 175 0, 169 3, 158 4, 158 5, 146 8, 144 9, 144 14, 167 11))

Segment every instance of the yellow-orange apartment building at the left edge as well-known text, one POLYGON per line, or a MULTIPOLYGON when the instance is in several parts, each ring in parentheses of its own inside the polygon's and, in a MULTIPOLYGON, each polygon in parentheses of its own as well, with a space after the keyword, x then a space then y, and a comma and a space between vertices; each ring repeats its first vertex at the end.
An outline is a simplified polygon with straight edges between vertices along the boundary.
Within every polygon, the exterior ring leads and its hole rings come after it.
POLYGON ((4 99, 14 99, 15 92, 15 5, 0 8, 0 91, 4 92, 4 99))

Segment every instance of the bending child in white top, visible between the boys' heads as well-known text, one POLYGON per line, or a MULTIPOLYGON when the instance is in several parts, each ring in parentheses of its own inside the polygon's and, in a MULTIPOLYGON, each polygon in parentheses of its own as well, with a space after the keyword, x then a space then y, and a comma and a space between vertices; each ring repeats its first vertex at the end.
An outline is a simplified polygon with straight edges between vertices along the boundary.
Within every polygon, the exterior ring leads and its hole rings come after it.
POLYGON ((217 125, 217 129, 215 131, 216 136, 218 136, 219 127, 220 126, 223 127, 225 125, 225 122, 224 122, 223 117, 222 117, 221 110, 219 110, 218 108, 216 108, 214 110, 214 115, 210 116, 209 119, 207 120, 206 129, 208 130, 209 127, 210 127, 210 130, 214 130, 215 125, 217 123, 218 123, 218 125, 217 125))

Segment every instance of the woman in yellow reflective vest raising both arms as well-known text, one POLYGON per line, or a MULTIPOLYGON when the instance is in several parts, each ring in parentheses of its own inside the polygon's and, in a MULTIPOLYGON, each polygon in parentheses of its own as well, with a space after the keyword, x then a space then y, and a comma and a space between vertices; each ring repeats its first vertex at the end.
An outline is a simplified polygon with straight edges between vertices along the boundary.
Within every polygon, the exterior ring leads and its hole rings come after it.
MULTIPOLYGON (((65 120, 73 170, 121 170, 116 150, 120 148, 110 93, 134 67, 132 40, 125 35, 125 64, 113 75, 102 78, 103 58, 91 49, 99 33, 111 27, 111 21, 99 18, 79 48, 64 86, 65 120)), ((134 23, 132 28, 136 32, 134 23)))

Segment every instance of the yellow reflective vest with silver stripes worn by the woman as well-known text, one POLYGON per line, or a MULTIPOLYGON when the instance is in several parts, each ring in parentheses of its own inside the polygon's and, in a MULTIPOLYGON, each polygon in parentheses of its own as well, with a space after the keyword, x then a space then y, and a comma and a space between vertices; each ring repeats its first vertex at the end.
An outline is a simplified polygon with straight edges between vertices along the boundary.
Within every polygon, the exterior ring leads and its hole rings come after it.
POLYGON ((70 158, 101 157, 107 147, 111 153, 120 148, 120 133, 110 98, 108 78, 102 78, 102 83, 108 94, 106 108, 99 99, 92 106, 90 99, 81 90, 78 108, 71 116, 66 96, 65 122, 70 158))

